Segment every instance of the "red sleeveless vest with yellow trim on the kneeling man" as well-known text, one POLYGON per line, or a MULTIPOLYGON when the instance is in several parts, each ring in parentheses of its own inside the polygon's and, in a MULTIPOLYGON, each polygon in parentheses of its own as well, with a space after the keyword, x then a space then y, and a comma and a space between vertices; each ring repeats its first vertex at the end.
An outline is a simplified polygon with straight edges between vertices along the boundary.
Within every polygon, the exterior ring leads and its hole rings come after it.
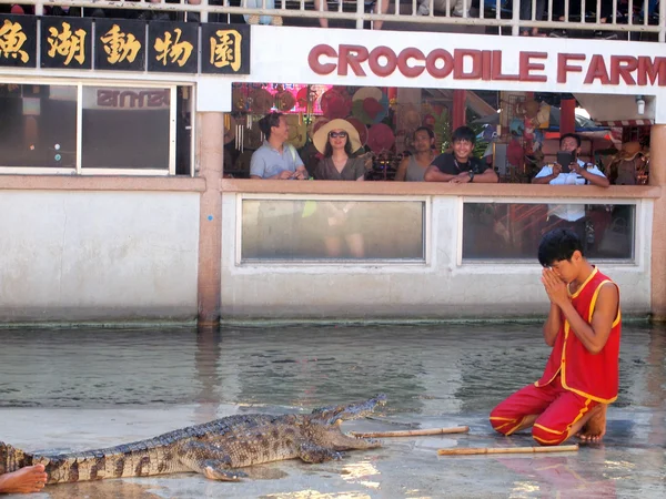
MULTIPOLYGON (((576 312, 587 324, 592 323, 592 315, 599 291, 606 283, 613 283, 613 281, 598 272, 597 267, 594 267, 593 273, 578 291, 571 295, 576 312)), ((619 305, 608 340, 602 352, 596 355, 591 354, 585 348, 574 332, 571 330, 568 320, 564 316, 563 323, 559 326, 555 346, 544 374, 535 385, 548 385, 559 374, 562 386, 565 389, 598 403, 609 404, 614 401, 617 398, 619 383, 619 335, 622 329, 619 305)))

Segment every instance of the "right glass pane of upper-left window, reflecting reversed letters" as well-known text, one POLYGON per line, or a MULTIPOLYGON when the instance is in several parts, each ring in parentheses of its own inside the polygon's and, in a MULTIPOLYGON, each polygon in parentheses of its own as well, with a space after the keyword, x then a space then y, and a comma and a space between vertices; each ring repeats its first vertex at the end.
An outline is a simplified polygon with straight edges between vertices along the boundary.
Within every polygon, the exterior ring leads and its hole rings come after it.
POLYGON ((169 169, 169 89, 83 86, 83 169, 169 169))

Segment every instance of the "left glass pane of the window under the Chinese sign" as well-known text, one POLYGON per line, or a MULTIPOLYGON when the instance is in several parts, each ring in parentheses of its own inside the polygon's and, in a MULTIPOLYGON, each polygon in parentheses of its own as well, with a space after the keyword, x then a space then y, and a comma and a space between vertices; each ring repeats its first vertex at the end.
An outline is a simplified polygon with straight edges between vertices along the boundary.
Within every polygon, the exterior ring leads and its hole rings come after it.
POLYGON ((0 166, 77 166, 77 88, 0 84, 0 166))

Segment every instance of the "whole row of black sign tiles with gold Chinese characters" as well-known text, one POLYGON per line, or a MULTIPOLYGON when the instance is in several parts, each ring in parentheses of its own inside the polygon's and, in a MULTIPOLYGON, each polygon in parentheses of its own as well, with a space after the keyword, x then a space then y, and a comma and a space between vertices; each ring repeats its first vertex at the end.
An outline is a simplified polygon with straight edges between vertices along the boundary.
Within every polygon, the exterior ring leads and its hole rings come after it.
POLYGON ((0 67, 38 64, 48 69, 249 74, 250 27, 0 14, 0 67))

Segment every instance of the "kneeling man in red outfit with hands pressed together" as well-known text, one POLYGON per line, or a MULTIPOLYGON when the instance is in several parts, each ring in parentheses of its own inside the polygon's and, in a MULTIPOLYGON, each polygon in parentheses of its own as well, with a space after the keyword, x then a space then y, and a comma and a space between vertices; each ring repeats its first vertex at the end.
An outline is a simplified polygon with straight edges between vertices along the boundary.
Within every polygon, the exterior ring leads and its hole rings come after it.
POLYGON ((538 261, 551 301, 544 339, 553 350, 542 378, 495 407, 491 424, 504 435, 532 427, 544 446, 573 435, 597 441, 606 432, 607 404, 617 398, 619 291, 587 262, 573 231, 545 234, 538 261))

